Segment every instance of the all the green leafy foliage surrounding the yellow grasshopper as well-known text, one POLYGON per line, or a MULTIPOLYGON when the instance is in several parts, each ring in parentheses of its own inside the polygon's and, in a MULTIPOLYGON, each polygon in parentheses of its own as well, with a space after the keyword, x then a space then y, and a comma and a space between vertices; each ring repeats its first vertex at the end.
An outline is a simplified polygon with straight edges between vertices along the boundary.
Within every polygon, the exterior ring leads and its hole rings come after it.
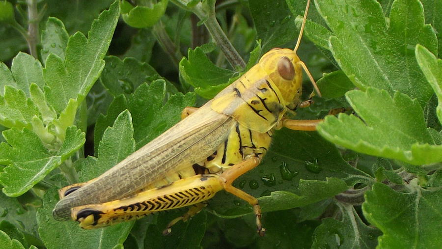
MULTIPOLYGON (((234 183, 259 197, 265 237, 224 192, 168 236, 186 210, 92 231, 53 219, 57 189, 111 168, 268 50, 293 48, 305 5, 0 1, 0 248, 440 248, 434 0, 310 4, 298 54, 323 96, 294 118, 325 121, 276 131, 264 162, 234 183), (352 111, 326 116, 342 107, 352 111)), ((304 99, 311 90, 305 81, 304 99)))

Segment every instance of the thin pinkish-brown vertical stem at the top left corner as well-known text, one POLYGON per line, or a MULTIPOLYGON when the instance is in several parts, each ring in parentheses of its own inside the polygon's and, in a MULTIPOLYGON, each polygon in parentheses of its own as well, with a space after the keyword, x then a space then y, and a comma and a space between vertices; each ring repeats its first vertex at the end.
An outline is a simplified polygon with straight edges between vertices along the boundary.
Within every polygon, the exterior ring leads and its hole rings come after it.
POLYGON ((37 0, 27 0, 28 3, 28 42, 29 53, 38 58, 37 55, 37 44, 39 42, 38 37, 38 10, 37 10, 37 0))

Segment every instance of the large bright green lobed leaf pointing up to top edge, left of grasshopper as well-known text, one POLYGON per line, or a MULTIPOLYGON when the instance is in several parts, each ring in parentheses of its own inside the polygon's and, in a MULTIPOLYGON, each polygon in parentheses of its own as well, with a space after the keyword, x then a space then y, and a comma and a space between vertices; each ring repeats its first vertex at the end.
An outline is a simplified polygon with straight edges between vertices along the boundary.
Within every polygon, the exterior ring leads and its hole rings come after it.
POLYGON ((81 32, 69 38, 64 61, 54 54, 47 57, 45 93, 55 111, 63 111, 69 99, 81 103, 98 79, 118 17, 119 4, 115 1, 93 22, 87 39, 81 32))

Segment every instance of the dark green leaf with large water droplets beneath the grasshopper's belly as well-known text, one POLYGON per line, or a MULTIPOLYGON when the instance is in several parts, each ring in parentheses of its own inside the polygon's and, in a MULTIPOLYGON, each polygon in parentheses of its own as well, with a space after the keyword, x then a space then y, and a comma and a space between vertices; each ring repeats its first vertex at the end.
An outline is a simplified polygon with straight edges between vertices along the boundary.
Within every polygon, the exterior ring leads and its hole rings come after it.
MULTIPOLYGON (((373 179, 350 166, 336 147, 317 133, 276 131, 264 161, 234 185, 259 197, 264 212, 301 207, 330 198, 358 182, 373 179), (339 179, 338 179, 339 178, 339 179)), ((219 193, 209 206, 221 217, 251 214, 249 203, 219 193)))

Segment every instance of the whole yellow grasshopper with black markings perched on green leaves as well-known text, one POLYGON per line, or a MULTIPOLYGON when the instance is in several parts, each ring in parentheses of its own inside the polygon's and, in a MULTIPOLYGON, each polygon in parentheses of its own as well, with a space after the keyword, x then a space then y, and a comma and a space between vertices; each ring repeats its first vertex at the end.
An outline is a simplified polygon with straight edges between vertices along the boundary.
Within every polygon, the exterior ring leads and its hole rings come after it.
POLYGON ((301 102, 302 68, 294 50, 272 49, 214 99, 199 109, 186 108, 182 120, 101 176, 59 190, 53 211, 59 221, 74 220, 85 229, 129 221, 163 210, 192 206, 171 221, 165 233, 225 190, 253 206, 258 233, 264 235, 258 200, 232 182, 256 167, 269 149, 272 130, 315 130, 321 120, 290 120, 288 110, 301 102))

